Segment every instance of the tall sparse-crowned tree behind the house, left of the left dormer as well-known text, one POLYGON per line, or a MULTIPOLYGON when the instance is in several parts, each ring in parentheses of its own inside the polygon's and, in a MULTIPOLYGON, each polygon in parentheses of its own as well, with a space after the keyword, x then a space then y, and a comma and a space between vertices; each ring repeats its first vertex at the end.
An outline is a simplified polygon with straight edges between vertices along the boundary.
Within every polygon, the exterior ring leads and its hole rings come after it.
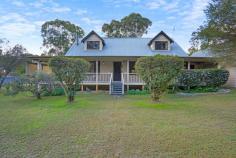
POLYGON ((41 36, 47 55, 64 55, 76 38, 84 36, 84 31, 69 21, 56 19, 42 25, 41 36))

